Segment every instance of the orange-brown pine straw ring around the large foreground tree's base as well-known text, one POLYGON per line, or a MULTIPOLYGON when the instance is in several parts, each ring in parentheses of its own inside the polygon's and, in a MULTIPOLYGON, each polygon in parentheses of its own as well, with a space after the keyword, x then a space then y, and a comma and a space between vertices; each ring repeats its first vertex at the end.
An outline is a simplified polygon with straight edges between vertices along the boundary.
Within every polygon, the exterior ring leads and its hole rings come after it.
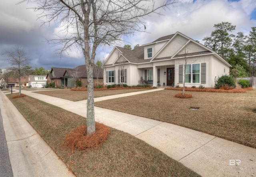
POLYGON ((108 139, 110 128, 96 122, 95 129, 96 132, 92 135, 86 134, 87 126, 80 126, 73 129, 64 137, 64 147, 72 149, 72 153, 74 149, 85 150, 98 148, 108 139))

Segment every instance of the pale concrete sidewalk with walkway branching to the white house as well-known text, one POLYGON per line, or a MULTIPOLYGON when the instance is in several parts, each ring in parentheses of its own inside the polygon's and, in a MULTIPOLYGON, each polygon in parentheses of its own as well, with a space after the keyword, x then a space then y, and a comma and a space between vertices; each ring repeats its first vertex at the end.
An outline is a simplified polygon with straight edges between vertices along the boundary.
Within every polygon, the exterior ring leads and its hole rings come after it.
MULTIPOLYGON (((162 89, 149 91, 160 90, 162 89)), ((95 98, 94 101, 145 92, 148 91, 105 96, 95 98)), ((72 102, 28 90, 22 90, 22 93, 86 116, 86 100, 72 102)), ((95 107, 95 120, 136 136, 202 176, 256 176, 256 149, 254 148, 188 128, 104 108, 95 107)))

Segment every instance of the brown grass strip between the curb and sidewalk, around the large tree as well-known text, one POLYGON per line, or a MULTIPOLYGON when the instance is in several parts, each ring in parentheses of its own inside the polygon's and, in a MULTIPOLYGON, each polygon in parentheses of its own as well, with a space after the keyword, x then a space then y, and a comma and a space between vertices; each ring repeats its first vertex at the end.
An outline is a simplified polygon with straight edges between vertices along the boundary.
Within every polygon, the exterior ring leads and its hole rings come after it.
POLYGON ((72 153, 62 147, 63 138, 72 129, 84 125, 85 118, 30 96, 13 99, 15 95, 7 96, 78 177, 199 176, 142 140, 113 128, 101 147, 72 153))

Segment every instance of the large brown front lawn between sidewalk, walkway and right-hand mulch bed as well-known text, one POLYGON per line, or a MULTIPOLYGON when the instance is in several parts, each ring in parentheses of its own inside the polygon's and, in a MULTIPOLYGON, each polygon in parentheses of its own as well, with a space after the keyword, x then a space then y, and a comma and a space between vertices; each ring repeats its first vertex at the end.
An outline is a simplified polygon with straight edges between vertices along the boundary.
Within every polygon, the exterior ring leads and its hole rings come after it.
POLYGON ((95 102, 94 105, 176 124, 256 148, 256 113, 253 111, 256 90, 246 93, 190 92, 193 95, 190 99, 175 98, 179 92, 162 90, 95 102), (190 110, 190 107, 200 109, 190 110))

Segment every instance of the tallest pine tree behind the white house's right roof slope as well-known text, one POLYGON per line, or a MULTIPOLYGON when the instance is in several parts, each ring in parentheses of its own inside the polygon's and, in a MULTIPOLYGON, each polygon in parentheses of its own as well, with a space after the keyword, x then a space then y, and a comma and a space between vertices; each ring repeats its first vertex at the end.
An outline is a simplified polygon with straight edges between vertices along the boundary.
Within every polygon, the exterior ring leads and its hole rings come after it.
POLYGON ((210 37, 204 37, 204 45, 213 51, 216 51, 223 59, 228 58, 230 46, 232 44, 233 34, 230 34, 236 29, 236 26, 229 22, 222 22, 213 26, 216 30, 212 31, 210 37))

